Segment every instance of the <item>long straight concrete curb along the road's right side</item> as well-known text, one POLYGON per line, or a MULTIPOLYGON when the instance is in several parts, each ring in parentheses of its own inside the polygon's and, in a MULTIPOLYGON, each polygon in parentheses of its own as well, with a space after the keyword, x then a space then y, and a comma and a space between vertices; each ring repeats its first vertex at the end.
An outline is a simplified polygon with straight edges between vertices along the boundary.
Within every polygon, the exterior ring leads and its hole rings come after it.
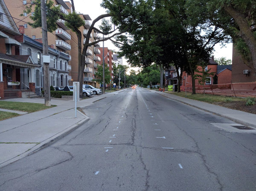
MULTIPOLYGON (((148 91, 150 91, 150 90, 148 90, 148 91)), ((159 94, 157 91, 156 91, 155 93, 159 94)), ((161 95, 161 96, 163 96, 163 97, 170 98, 170 97, 168 97, 168 96, 166 96, 166 95, 163 95, 163 94, 159 94, 159 95, 161 95)), ((236 119, 236 118, 234 118, 234 117, 230 117, 230 116, 227 116, 227 115, 224 115, 224 114, 219 114, 219 113, 214 112, 214 111, 211 111, 211 110, 209 110, 209 109, 201 108, 201 107, 198 107, 197 105, 192 105, 192 104, 186 103, 186 102, 184 102, 184 101, 177 100, 177 99, 175 99, 175 98, 172 98, 172 99, 175 100, 175 101, 178 101, 178 102, 180 102, 180 103, 184 103, 184 104, 186 104, 186 105, 189 105, 189 106, 192 106, 192 107, 201 109, 201 110, 203 110, 203 111, 207 111, 207 112, 209 112, 209 113, 212 113, 212 114, 215 114, 215 115, 218 115, 218 116, 221 116, 221 117, 225 117, 225 118, 227 118, 227 119, 229 119, 229 120, 232 120, 232 121, 234 121, 234 122, 236 122, 236 123, 240 123, 240 124, 242 124, 242 125, 246 125, 246 126, 250 126, 250 127, 256 128, 256 124, 247 123, 247 122, 245 122, 245 121, 238 120, 238 119, 236 119)), ((210 103, 208 103, 208 104, 210 104, 210 103)), ((219 107, 221 107, 221 106, 219 106, 219 107)))

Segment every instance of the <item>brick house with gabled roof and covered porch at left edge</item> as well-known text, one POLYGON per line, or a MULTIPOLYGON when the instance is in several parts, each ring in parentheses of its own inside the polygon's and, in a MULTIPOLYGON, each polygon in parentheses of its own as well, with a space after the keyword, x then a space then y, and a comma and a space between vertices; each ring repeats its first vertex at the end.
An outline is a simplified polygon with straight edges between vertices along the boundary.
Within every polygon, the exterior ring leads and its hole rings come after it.
POLYGON ((30 55, 20 55, 21 36, 3 0, 0 0, 0 99, 22 97, 22 69, 28 71, 26 79, 35 92, 35 68, 30 55))

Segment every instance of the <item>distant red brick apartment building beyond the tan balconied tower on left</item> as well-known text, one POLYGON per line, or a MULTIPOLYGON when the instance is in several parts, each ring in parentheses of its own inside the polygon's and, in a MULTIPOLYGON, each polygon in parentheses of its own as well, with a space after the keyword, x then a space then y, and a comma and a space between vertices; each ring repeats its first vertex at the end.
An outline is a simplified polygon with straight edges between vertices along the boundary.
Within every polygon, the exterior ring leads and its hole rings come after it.
MULTIPOLYGON (((103 64, 103 47, 98 48, 100 51, 100 54, 96 54, 97 57, 100 58, 101 62, 97 61, 96 63, 99 65, 103 64)), ((111 82, 113 82, 114 79, 114 72, 113 72, 113 51, 109 50, 108 47, 104 47, 104 57, 105 57, 105 64, 108 65, 110 75, 111 75, 111 82)), ((110 82, 106 82, 107 87, 110 87, 110 82)), ((111 85, 112 86, 112 85, 111 85)))

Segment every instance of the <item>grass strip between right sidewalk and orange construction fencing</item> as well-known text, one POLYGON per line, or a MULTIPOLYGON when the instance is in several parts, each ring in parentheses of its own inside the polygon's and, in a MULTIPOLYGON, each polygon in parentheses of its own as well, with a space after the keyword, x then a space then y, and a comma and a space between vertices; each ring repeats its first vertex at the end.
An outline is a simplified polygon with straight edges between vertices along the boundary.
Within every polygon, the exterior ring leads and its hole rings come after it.
POLYGON ((203 101, 207 103, 214 103, 214 102, 229 102, 232 100, 234 101, 245 101, 246 99, 241 97, 227 97, 227 96, 221 96, 221 95, 211 95, 211 94, 191 94, 190 92, 187 92, 185 95, 185 92, 172 92, 172 91, 166 91, 166 93, 174 94, 181 97, 186 97, 192 100, 198 100, 203 101), (230 100, 231 99, 231 100, 230 100))

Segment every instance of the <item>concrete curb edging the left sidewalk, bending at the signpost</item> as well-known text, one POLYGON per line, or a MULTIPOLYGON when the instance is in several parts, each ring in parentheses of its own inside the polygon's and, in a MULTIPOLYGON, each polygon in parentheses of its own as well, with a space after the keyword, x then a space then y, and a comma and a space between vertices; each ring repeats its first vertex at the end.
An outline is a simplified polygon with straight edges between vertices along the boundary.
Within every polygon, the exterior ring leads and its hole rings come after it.
POLYGON ((56 141, 60 140, 61 138, 65 137, 67 134, 70 134, 72 131, 76 130, 77 128, 79 128, 81 125, 83 125, 84 123, 86 123, 88 120, 90 120, 89 117, 87 117, 86 115, 84 115, 83 113, 81 113, 80 111, 77 110, 77 112, 79 112, 81 115, 84 116, 84 119, 79 121, 78 123, 71 125, 70 127, 64 129, 63 131, 59 132, 58 134, 53 135, 52 137, 49 137, 47 140, 44 140, 43 142, 39 143, 38 145, 35 145, 33 148, 29 149, 28 151, 20 154, 17 157, 14 157, 10 160, 7 160, 6 162, 3 162, 0 164, 0 168, 2 168, 3 166, 9 165, 17 160, 22 159, 23 157, 26 157, 30 154, 33 154, 39 150, 41 150, 42 148, 45 148, 49 145, 52 145, 53 143, 55 143, 56 141))

